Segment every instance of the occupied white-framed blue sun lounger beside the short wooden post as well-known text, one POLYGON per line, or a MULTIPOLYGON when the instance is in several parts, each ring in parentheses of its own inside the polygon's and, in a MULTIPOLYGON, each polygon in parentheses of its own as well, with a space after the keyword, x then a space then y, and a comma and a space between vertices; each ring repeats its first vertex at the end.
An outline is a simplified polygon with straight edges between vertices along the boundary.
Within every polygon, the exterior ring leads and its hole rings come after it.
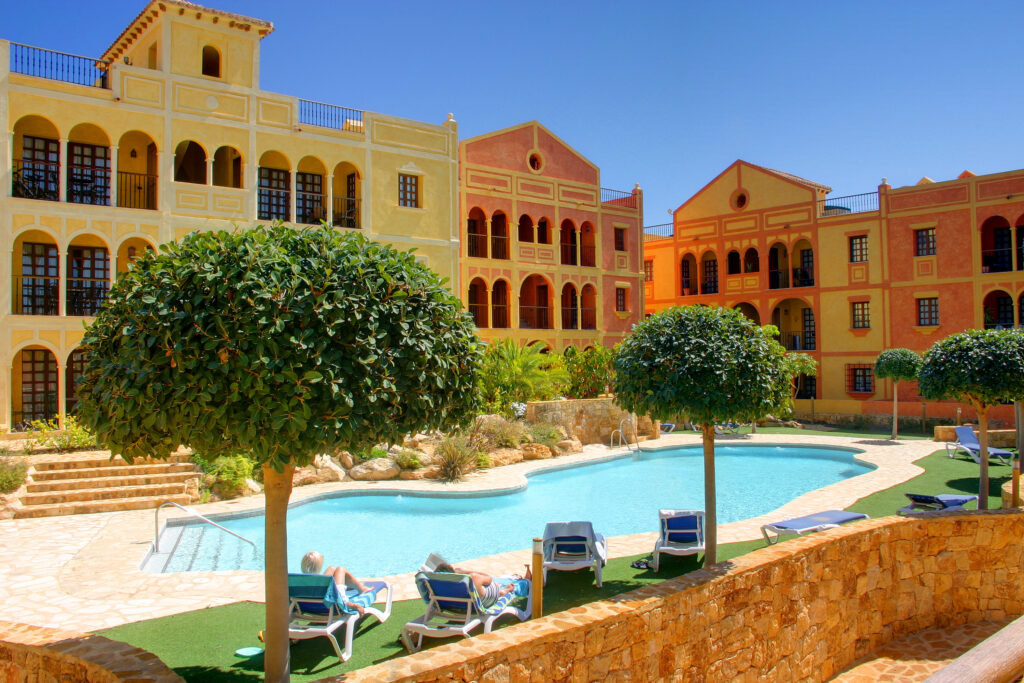
POLYGON ((417 573, 416 588, 427 603, 427 611, 401 628, 401 643, 406 649, 416 652, 423 646, 424 638, 467 637, 480 625, 483 626, 483 633, 490 633, 495 622, 505 614, 511 614, 520 622, 529 618, 532 610, 530 582, 500 578, 493 581, 501 586, 512 584, 515 590, 484 607, 468 574, 444 571, 417 573), (522 599, 525 599, 524 607, 513 604, 522 599))

